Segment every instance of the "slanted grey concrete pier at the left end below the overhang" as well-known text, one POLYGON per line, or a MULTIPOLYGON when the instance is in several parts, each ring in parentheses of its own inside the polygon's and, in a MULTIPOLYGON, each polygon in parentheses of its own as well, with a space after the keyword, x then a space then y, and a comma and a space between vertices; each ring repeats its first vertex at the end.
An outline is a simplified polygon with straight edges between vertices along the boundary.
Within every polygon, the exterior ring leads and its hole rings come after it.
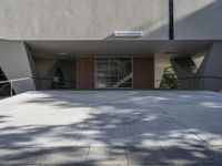
MULTIPOLYGON (((33 77, 34 72, 32 58, 23 42, 0 41, 0 66, 8 80, 33 77)), ((24 80, 13 83, 16 93, 36 90, 33 80, 24 80)))

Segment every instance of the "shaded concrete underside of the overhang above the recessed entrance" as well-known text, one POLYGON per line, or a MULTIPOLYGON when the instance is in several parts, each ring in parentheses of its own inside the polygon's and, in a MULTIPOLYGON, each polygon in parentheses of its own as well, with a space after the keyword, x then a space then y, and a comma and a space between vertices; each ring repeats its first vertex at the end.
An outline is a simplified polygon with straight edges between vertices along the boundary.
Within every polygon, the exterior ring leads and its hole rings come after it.
POLYGON ((191 56, 204 53, 214 41, 26 41, 34 58, 74 56, 191 56))

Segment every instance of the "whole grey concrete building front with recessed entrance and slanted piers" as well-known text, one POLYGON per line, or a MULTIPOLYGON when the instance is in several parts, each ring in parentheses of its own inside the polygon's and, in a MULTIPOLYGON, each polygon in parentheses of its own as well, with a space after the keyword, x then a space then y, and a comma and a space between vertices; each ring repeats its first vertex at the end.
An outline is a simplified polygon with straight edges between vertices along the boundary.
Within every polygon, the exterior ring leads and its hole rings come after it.
POLYGON ((0 68, 14 92, 222 87, 221 0, 1 0, 0 68))

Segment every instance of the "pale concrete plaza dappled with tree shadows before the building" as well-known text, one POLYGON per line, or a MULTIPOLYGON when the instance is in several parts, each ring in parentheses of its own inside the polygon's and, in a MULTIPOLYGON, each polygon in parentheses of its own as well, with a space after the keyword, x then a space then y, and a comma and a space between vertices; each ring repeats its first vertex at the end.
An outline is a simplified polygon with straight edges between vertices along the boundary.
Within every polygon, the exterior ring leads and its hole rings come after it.
POLYGON ((0 164, 222 164, 222 95, 39 91, 0 101, 0 164))

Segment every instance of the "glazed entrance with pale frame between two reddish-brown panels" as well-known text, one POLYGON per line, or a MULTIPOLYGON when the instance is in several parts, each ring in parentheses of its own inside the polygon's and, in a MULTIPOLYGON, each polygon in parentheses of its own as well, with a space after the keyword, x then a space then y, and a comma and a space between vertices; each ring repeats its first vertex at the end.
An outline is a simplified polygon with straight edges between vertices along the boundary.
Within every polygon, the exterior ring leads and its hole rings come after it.
POLYGON ((95 58, 95 89, 132 89, 132 58, 95 58))

